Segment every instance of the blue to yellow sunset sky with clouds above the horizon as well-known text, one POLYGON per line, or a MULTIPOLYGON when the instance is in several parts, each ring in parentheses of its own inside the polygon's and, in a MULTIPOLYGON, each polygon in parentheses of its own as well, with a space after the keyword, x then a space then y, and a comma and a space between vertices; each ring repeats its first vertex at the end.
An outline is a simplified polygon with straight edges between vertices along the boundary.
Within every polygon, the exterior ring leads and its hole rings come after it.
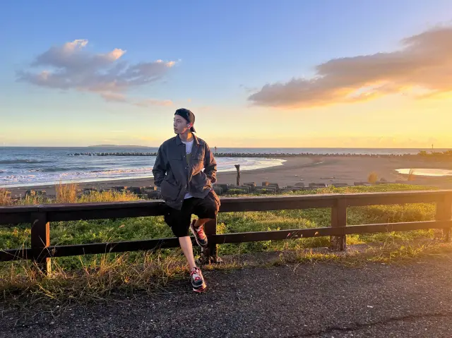
POLYGON ((452 1, 23 1, 0 146, 452 147, 452 1))

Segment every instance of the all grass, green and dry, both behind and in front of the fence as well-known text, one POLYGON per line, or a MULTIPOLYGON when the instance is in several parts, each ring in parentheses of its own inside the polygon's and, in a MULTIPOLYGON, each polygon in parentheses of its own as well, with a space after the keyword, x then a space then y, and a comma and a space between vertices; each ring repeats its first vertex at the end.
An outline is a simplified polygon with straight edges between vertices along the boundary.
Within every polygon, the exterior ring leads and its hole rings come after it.
MULTIPOLYGON (((136 200, 127 192, 92 192, 76 198, 76 186, 57 189, 57 202, 105 202, 114 200, 136 200)), ((329 186, 314 193, 359 193, 431 189, 405 184, 380 184, 376 186, 352 186, 335 188, 329 186)), ((304 194, 305 191, 291 194, 304 194)), ((309 193, 313 193, 310 191, 309 193)), ((2 205, 11 205, 7 193, 0 192, 2 205)), ((20 205, 45 202, 42 196, 32 196, 19 201, 20 205)), ((381 205, 350 207, 347 224, 371 224, 387 222, 410 222, 434 219, 435 206, 429 203, 407 205, 381 205)), ((331 210, 275 210, 268 212, 228 212, 218 216, 218 233, 246 231, 268 231, 307 227, 328 227, 331 210)), ((51 244, 100 243, 129 241, 134 239, 156 239, 172 236, 163 217, 134 217, 129 219, 100 219, 91 221, 52 222, 51 244)), ((393 262, 418 257, 434 251, 452 251, 448 245, 432 241, 434 230, 406 231, 388 234, 363 234, 347 236, 347 244, 369 246, 363 252, 319 253, 313 247, 328 246, 328 238, 292 239, 287 241, 262 241, 254 243, 224 244, 219 246, 220 255, 240 257, 245 253, 275 253, 281 262, 311 262, 331 260, 344 264, 355 262, 393 262), (424 241, 417 244, 419 241, 424 241), (378 245, 376 245, 378 244, 378 245)), ((0 227, 0 248, 30 246, 30 224, 0 227)), ((199 253, 196 248, 196 253, 199 253)), ((273 263, 272 263, 273 264, 273 263)), ((242 266, 236 262, 221 268, 242 266)), ((217 267, 218 268, 218 267, 217 267)), ((84 255, 78 257, 53 258, 52 276, 45 277, 32 269, 29 261, 0 262, 0 292, 5 300, 22 298, 25 295, 39 299, 82 299, 103 297, 112 292, 132 293, 134 290, 150 291, 165 285, 169 280, 185 277, 186 264, 179 249, 162 249, 155 252, 124 254, 84 255), (66 298, 65 298, 66 297, 66 298)))

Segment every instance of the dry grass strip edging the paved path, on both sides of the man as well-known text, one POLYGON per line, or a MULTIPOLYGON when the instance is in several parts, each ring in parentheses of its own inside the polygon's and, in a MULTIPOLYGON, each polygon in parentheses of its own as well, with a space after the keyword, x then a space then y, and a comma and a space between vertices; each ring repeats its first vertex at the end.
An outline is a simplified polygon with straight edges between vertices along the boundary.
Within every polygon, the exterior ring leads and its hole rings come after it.
MULTIPOLYGON (((204 270, 234 270, 244 267, 268 267, 283 264, 312 264, 316 262, 334 262, 357 267, 369 263, 400 264, 414 260, 447 256, 452 253, 452 243, 439 241, 398 242, 388 241, 379 246, 351 248, 347 252, 331 252, 326 249, 302 249, 283 251, 278 258, 262 261, 241 260, 240 255, 225 258, 223 265, 207 265, 204 270)), ((121 293, 131 295, 139 292, 152 293, 166 286, 168 282, 186 277, 188 268, 177 250, 171 255, 142 253, 131 262, 130 253, 119 255, 99 255, 90 265, 81 269, 64 270, 54 263, 51 277, 37 273, 31 263, 11 262, 9 269, 0 274, 0 294, 4 301, 14 303, 60 304, 97 301, 107 296, 121 293), (6 271, 6 272, 5 272, 6 271), (20 272, 20 273, 18 273, 20 272)), ((248 256, 249 258, 249 256, 248 256)))

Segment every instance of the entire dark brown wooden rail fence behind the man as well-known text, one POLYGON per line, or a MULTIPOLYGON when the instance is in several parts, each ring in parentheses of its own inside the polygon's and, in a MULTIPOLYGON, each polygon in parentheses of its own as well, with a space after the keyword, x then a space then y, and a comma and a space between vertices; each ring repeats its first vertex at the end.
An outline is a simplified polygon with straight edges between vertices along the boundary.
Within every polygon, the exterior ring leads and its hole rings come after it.
MULTIPOLYGON (((345 250, 347 234, 442 229, 444 239, 448 241, 452 227, 452 190, 222 198, 221 204, 220 212, 331 208, 331 227, 216 234, 216 220, 213 220, 206 224, 209 246, 203 251, 204 260, 209 262, 218 260, 217 245, 221 243, 330 236, 331 249, 345 250), (436 203, 435 220, 347 226, 347 207, 406 203, 436 203)), ((0 261, 30 259, 42 272, 49 273, 53 257, 174 248, 179 246, 177 238, 50 245, 51 222, 158 216, 165 215, 166 210, 159 200, 0 207, 0 226, 31 224, 31 248, 0 250, 0 261)))

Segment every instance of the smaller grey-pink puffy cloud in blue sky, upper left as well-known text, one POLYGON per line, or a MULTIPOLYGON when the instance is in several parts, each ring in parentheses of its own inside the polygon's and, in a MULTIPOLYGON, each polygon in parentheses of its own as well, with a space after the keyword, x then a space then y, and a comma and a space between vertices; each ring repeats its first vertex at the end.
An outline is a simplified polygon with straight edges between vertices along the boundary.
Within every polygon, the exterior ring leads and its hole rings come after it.
POLYGON ((95 92, 107 101, 127 102, 125 93, 160 80, 174 61, 129 64, 115 48, 105 54, 88 52, 88 40, 74 40, 38 55, 30 68, 18 71, 18 80, 59 90, 95 92))

